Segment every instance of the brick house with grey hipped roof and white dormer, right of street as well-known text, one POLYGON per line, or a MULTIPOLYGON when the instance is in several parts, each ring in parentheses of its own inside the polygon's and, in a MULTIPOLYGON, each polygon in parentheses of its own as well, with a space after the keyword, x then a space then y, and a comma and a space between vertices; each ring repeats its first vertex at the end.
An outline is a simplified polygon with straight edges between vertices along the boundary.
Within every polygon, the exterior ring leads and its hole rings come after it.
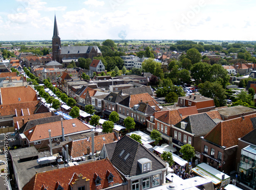
POLYGON ((173 145, 177 149, 189 144, 195 148, 200 158, 201 136, 205 136, 217 124, 207 113, 189 115, 173 126, 173 145))

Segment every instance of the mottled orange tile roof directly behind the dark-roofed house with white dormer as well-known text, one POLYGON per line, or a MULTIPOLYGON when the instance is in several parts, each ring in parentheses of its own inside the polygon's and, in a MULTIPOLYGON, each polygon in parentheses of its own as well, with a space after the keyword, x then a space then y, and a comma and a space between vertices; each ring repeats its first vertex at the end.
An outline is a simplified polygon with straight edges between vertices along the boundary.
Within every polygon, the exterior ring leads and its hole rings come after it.
MULTIPOLYGON (((94 150, 101 151, 104 144, 113 143, 117 141, 117 137, 115 133, 103 134, 94 136, 94 150)), ((87 147, 92 151, 92 142, 87 139, 73 140, 68 143, 69 145, 69 155, 72 158, 80 157, 83 155, 87 155, 87 147)), ((63 146, 65 148, 65 146, 63 146)), ((65 148, 66 149, 66 148, 65 148)))

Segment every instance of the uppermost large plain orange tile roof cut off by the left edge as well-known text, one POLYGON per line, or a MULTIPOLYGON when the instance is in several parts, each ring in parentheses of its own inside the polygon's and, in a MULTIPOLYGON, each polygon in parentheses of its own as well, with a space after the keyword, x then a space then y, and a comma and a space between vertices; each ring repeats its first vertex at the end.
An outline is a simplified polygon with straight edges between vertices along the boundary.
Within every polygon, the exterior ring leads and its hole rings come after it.
POLYGON ((1 103, 3 105, 31 101, 37 101, 37 96, 35 90, 30 86, 1 88, 1 103))

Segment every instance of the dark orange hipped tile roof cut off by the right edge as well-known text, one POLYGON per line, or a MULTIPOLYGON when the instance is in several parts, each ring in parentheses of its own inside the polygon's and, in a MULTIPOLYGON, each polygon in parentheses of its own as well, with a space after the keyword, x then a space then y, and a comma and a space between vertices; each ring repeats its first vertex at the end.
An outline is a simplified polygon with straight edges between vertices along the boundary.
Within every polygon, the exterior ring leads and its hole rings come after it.
POLYGON ((251 118, 256 117, 256 113, 241 117, 233 118, 220 122, 212 129, 204 139, 211 141, 219 146, 232 147, 238 145, 238 138, 243 137, 253 130, 251 118))

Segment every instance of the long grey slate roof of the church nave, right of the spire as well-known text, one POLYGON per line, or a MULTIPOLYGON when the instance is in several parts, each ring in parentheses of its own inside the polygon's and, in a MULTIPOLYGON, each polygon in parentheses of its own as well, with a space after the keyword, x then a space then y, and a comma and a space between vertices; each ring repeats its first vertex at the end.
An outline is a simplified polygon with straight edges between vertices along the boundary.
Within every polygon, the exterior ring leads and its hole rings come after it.
POLYGON ((94 47, 97 53, 101 53, 98 46, 62 46, 61 47, 61 54, 88 54, 91 52, 92 48, 94 47))

